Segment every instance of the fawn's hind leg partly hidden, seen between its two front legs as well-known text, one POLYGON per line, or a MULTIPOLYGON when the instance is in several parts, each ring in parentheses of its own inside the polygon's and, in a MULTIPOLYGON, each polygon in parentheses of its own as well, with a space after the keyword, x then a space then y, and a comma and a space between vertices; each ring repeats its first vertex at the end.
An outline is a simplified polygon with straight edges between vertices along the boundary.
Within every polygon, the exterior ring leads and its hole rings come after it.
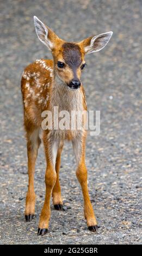
POLYGON ((55 172, 57 173, 57 179, 55 185, 52 190, 53 197, 53 205, 55 210, 63 211, 63 201, 61 199, 61 189, 60 189, 60 181, 59 181, 59 170, 60 170, 60 162, 61 162, 61 151, 63 149, 64 143, 61 141, 59 143, 59 148, 57 151, 57 157, 55 162, 55 172))

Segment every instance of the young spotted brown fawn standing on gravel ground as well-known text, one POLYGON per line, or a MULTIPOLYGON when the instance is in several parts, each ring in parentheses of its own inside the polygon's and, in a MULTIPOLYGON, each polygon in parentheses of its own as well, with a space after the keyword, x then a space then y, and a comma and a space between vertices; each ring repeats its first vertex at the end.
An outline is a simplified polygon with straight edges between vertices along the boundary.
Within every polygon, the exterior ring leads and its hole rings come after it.
POLYGON ((76 158, 76 176, 82 188, 84 200, 84 217, 90 231, 97 231, 98 224, 90 201, 85 165, 85 142, 87 131, 71 129, 41 129, 42 112, 58 106, 59 111, 71 113, 87 110, 85 90, 81 74, 85 68, 85 54, 102 50, 110 40, 113 32, 92 35, 79 42, 67 42, 60 39, 51 28, 34 16, 35 31, 39 40, 51 51, 53 60, 37 59, 23 71, 21 92, 23 99, 24 129, 27 138, 28 156, 28 191, 26 195, 26 221, 32 221, 35 215, 34 173, 38 149, 44 144, 47 162, 45 172, 45 202, 40 214, 38 235, 45 235, 51 216, 51 197, 54 209, 64 210, 59 182, 61 151, 64 142, 72 142, 76 158))

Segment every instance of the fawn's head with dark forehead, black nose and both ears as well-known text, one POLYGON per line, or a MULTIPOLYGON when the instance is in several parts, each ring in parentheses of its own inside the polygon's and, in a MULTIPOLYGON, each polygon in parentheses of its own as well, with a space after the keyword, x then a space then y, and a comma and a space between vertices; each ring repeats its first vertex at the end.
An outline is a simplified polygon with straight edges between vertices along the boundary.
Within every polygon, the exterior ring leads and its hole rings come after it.
POLYGON ((81 86, 81 74, 85 67, 85 54, 102 50, 110 40, 113 32, 90 36, 81 42, 66 42, 60 39, 51 28, 34 16, 36 34, 43 44, 52 52, 55 76, 70 89, 81 86))

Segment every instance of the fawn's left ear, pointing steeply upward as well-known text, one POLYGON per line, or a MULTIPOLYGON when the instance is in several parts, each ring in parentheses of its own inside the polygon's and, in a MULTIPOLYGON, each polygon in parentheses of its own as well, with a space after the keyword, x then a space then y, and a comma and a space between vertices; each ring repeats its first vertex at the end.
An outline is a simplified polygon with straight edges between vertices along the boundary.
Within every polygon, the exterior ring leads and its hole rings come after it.
POLYGON ((51 30, 51 28, 45 26, 36 16, 34 16, 34 26, 39 40, 52 51, 58 36, 51 30))

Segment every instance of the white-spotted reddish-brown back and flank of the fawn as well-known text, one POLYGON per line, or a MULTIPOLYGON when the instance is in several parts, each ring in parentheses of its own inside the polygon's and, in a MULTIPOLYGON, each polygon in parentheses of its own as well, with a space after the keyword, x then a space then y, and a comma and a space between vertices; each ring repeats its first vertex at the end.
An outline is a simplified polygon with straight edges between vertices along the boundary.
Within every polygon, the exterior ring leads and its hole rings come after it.
POLYGON ((24 69, 21 90, 25 125, 41 125, 41 112, 47 107, 52 79, 53 60, 37 59, 24 69))

